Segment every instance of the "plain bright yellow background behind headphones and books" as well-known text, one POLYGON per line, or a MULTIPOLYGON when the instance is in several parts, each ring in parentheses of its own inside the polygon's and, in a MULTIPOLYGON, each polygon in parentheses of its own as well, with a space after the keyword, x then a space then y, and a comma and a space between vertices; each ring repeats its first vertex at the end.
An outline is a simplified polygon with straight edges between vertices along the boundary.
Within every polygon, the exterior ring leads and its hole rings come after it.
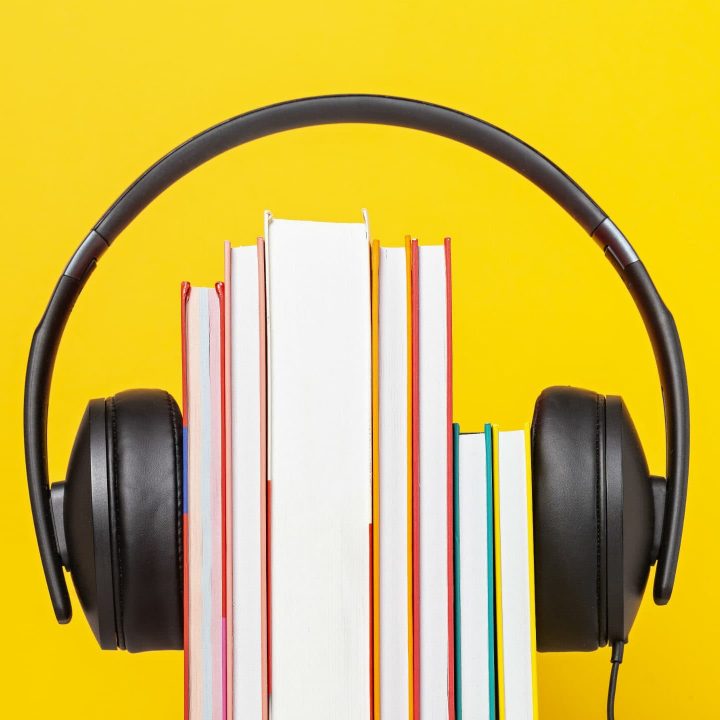
MULTIPOLYGON (((718 31, 712 0, 662 2, 4 2, 0 715, 177 718, 179 653, 102 653, 80 608, 59 627, 25 487, 22 387, 32 331, 77 243, 146 166, 269 102, 405 95, 518 134, 595 197, 672 309, 692 404, 691 490, 671 604, 646 598, 620 718, 718 717, 718 31)), ((663 471, 649 342, 610 265, 562 211, 494 161, 439 138, 335 127, 229 153, 125 232, 67 328, 50 412, 62 479, 89 398, 180 393, 178 286, 221 275, 221 241, 262 211, 358 219, 400 242, 453 237, 455 417, 531 418, 550 384, 622 394, 663 471)), ((545 718, 604 717, 608 652, 541 655, 545 718)))

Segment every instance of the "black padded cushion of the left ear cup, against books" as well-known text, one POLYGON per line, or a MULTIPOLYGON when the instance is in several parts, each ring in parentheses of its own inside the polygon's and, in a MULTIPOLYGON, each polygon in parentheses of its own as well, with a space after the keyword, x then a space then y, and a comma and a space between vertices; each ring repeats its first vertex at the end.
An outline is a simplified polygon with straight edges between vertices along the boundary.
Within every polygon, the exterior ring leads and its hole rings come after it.
POLYGON ((160 390, 105 401, 118 646, 183 646, 182 420, 160 390))

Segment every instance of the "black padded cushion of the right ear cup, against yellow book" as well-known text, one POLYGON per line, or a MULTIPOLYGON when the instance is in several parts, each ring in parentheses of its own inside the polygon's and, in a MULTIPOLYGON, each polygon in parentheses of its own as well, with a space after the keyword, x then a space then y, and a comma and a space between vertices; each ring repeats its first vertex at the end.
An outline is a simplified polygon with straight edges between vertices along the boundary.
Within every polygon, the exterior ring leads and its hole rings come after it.
POLYGON ((607 642, 605 398, 552 387, 532 425, 537 645, 595 650, 607 642))

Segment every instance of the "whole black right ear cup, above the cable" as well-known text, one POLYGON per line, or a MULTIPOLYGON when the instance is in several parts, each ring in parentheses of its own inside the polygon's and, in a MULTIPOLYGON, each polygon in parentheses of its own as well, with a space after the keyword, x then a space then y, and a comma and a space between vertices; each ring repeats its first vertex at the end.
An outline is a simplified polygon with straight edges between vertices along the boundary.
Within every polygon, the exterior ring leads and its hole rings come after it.
POLYGON ((653 495, 622 400, 553 387, 532 426, 537 645, 626 640, 652 564, 653 495))

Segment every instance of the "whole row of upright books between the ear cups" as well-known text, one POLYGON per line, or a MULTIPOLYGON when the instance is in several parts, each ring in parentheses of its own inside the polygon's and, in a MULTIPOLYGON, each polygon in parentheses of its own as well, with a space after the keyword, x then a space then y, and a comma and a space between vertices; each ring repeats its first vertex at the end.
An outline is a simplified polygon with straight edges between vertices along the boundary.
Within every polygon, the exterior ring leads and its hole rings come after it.
POLYGON ((266 213, 183 283, 190 720, 537 716, 529 437, 452 422, 450 261, 266 213))

